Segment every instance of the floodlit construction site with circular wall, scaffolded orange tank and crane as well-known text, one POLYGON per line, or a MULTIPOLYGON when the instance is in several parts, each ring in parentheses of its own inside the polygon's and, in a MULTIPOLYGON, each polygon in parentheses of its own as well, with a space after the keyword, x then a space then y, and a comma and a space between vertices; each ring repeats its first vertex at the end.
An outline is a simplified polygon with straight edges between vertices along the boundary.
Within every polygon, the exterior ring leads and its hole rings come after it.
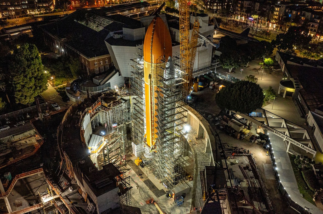
MULTIPOLYGON (((212 43, 199 32, 208 16, 190 14, 187 1, 179 1, 180 49, 173 54, 163 6, 147 17, 144 40, 126 62, 129 85, 88 91, 57 116, 47 138, 55 149, 31 154, 52 158, 46 166, 3 169, 4 213, 272 213, 253 198, 266 200, 250 157, 226 161, 231 154, 217 132, 188 106, 199 88, 192 76, 196 49, 212 43)), ((28 137, 41 146, 36 129, 28 137)))

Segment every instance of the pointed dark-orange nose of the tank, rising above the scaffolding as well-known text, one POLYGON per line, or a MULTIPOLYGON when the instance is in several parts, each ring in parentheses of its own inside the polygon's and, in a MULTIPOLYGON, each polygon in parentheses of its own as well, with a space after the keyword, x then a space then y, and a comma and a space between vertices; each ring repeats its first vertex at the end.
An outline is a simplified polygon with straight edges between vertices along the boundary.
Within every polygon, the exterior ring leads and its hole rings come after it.
POLYGON ((149 63, 162 63, 161 59, 172 56, 172 39, 161 17, 156 16, 148 26, 144 44, 143 58, 149 63))

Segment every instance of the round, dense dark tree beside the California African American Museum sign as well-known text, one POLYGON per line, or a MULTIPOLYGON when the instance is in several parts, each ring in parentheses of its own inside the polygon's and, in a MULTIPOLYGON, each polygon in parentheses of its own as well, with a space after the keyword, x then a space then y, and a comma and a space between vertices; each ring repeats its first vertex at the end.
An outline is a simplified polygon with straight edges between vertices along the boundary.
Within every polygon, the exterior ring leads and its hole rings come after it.
POLYGON ((262 88, 254 82, 244 80, 224 87, 215 97, 219 108, 244 114, 261 108, 263 101, 262 88))

